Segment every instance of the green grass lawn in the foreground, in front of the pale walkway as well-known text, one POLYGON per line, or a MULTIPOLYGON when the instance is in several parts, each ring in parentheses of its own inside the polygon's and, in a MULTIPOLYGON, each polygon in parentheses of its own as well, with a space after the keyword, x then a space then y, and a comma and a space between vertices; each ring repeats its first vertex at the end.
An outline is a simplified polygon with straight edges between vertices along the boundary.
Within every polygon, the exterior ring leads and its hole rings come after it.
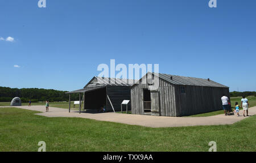
POLYGON ((0 151, 256 151, 256 117, 233 125, 150 128, 84 118, 48 118, 0 108, 0 151))

